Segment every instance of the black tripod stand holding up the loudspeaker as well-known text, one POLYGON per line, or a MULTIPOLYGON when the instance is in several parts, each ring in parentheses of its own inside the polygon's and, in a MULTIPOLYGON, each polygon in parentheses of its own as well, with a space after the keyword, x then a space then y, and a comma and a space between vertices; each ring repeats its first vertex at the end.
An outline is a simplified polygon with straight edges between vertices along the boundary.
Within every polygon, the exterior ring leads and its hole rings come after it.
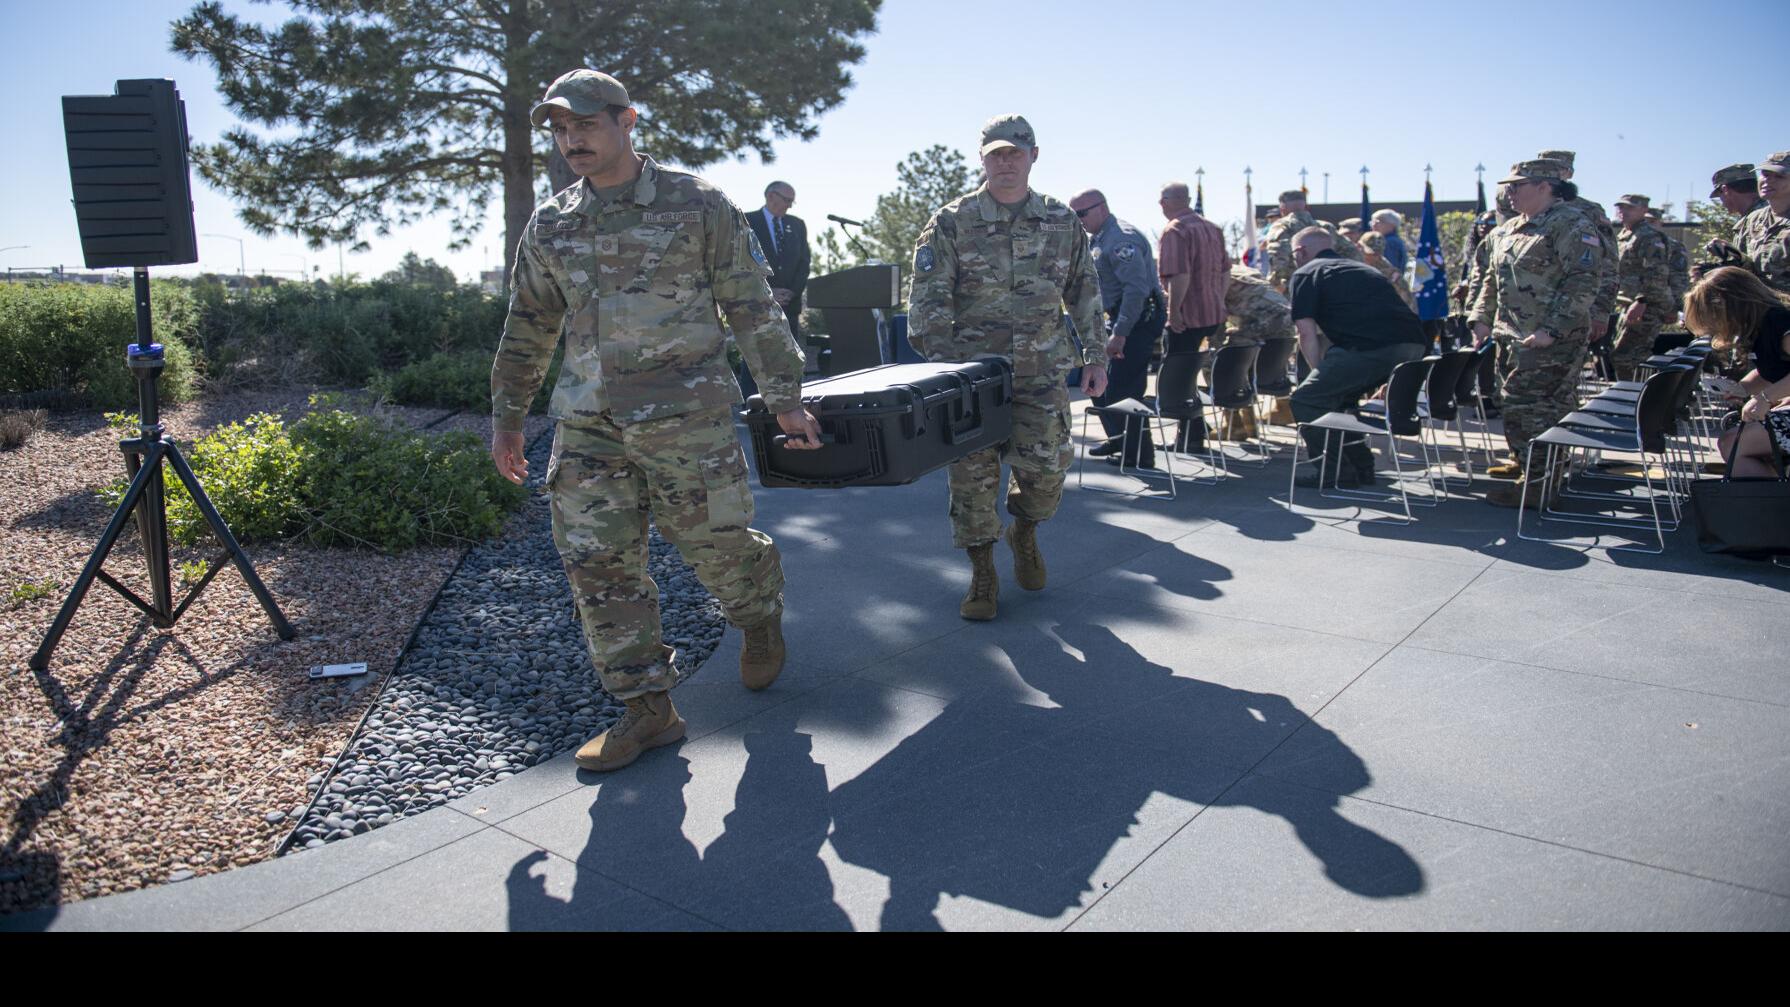
POLYGON ((125 490, 124 501, 118 503, 118 510, 113 512, 106 533, 100 535, 98 546, 93 547, 93 554, 88 556, 88 565, 75 578, 75 587, 63 599, 63 608, 55 614, 55 621, 50 622, 50 631, 45 633, 43 644, 32 655, 30 667, 36 671, 50 667, 50 653, 63 640, 68 622, 73 621, 75 610, 81 608, 81 601, 95 580, 104 581, 106 587, 116 590, 125 601, 141 608, 154 626, 165 630, 181 619, 193 599, 199 597, 199 592, 224 569, 224 563, 234 562, 242 580, 249 583, 249 590, 254 592, 267 617, 274 621, 274 631, 279 633, 279 639, 290 640, 297 635, 292 630, 292 622, 286 622, 286 617, 279 612, 279 605, 268 594, 267 585, 254 572, 254 563, 242 551, 242 544, 231 535, 218 510, 211 506, 211 497, 199 485, 199 478, 193 476, 193 469, 181 456, 181 449, 161 429, 161 401, 156 393, 156 381, 161 379, 165 361, 161 343, 150 342, 149 270, 138 267, 134 279, 138 342, 131 343, 127 360, 131 374, 136 377, 138 436, 118 442, 118 447, 124 449, 125 469, 131 474, 131 487, 125 490), (174 474, 179 476, 181 483, 186 485, 186 492, 192 494, 193 503, 199 504, 199 513, 204 515, 206 524, 211 526, 211 531, 224 544, 224 554, 211 560, 204 576, 199 578, 199 583, 193 585, 192 592, 179 605, 174 603, 174 583, 168 571, 168 497, 163 481, 163 461, 174 467, 174 474), (111 554, 118 535, 124 533, 125 519, 132 513, 136 515, 138 537, 143 540, 143 558, 149 562, 149 601, 143 601, 134 590, 118 583, 104 569, 106 556, 111 554))

